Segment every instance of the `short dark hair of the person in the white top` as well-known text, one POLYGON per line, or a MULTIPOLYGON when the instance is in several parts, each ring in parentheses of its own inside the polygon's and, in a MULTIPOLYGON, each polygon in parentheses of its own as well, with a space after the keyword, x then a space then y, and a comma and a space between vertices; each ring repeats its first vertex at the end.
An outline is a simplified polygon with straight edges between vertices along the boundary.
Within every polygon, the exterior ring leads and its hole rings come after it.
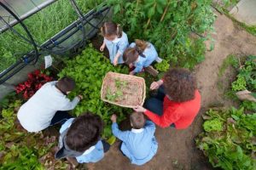
POLYGON ((58 82, 56 82, 56 88, 61 90, 63 94, 72 91, 76 87, 76 82, 74 82, 71 77, 62 77, 58 82))

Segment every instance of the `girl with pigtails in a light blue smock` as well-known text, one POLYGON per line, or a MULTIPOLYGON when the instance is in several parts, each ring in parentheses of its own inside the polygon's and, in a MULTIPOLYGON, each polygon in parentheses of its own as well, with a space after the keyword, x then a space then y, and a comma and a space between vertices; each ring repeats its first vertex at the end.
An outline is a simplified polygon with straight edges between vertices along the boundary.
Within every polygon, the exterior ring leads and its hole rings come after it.
POLYGON ((104 41, 100 50, 103 51, 107 46, 111 63, 113 65, 123 64, 123 54, 129 46, 127 35, 119 25, 113 22, 105 22, 101 31, 104 41))

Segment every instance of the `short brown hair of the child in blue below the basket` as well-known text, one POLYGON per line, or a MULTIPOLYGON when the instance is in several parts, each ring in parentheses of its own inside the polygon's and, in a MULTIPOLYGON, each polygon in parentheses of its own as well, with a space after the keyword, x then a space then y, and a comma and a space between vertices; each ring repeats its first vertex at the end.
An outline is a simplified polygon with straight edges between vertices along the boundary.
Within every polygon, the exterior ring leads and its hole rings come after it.
POLYGON ((130 122, 132 127, 139 129, 145 126, 146 119, 142 112, 133 112, 130 116, 130 122))

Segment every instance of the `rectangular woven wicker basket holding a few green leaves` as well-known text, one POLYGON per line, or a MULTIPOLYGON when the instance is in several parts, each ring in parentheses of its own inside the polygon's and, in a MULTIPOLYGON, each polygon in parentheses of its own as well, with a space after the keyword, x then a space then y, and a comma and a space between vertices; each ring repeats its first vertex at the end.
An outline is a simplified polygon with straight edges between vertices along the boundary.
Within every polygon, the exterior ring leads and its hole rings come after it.
POLYGON ((108 72, 102 82, 101 98, 103 101, 113 105, 134 108, 136 105, 143 105, 146 97, 146 84, 142 77, 108 72), (117 88, 116 81, 124 82, 117 88), (115 95, 119 91, 122 93, 116 99, 109 100, 107 95, 115 95))

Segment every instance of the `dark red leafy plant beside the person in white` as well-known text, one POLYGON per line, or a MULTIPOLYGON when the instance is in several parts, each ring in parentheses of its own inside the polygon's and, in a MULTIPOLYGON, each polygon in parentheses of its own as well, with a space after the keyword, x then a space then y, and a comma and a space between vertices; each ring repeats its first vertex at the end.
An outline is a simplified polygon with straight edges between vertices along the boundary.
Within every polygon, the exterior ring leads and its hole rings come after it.
POLYGON ((39 70, 33 71, 27 75, 28 79, 26 82, 21 82, 15 87, 17 94, 23 94, 23 99, 29 99, 35 94, 44 83, 53 80, 53 77, 42 73, 39 70))

